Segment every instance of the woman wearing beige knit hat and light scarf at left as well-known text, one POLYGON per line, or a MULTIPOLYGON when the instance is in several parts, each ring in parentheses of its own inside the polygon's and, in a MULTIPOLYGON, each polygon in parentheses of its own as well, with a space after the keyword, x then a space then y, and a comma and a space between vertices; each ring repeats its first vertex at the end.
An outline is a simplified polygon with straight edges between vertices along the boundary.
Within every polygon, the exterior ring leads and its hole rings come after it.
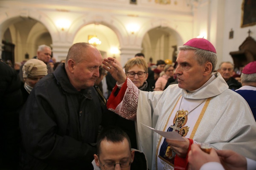
POLYGON ((23 94, 23 102, 25 103, 35 84, 47 75, 47 66, 41 60, 30 59, 24 64, 22 71, 25 83, 22 85, 21 90, 23 94))

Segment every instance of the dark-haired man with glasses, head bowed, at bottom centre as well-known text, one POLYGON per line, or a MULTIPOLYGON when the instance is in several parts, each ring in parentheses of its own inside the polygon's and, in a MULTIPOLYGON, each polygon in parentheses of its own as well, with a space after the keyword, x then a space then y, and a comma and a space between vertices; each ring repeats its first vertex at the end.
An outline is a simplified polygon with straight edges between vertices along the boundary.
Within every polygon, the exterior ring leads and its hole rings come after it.
POLYGON ((94 161, 92 162, 95 170, 147 169, 145 155, 141 152, 138 153, 138 157, 144 157, 144 159, 137 161, 134 168, 131 166, 134 161, 135 150, 131 150, 131 143, 127 134, 114 126, 104 129, 99 135, 97 153, 97 155, 94 154, 94 161))

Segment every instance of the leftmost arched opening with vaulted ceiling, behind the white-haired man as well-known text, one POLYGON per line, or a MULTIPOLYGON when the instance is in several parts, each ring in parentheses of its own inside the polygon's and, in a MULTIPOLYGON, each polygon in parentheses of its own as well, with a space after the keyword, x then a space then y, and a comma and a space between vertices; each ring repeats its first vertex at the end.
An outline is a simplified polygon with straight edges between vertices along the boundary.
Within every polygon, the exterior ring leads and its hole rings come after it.
MULTIPOLYGON (((3 33, 2 42, 14 45, 14 61, 12 62, 29 60, 37 54, 39 45, 50 46, 52 44, 51 35, 46 27, 35 19, 19 16, 6 20, 4 24, 7 29, 3 33)), ((3 53, 4 51, 2 56, 3 53)))

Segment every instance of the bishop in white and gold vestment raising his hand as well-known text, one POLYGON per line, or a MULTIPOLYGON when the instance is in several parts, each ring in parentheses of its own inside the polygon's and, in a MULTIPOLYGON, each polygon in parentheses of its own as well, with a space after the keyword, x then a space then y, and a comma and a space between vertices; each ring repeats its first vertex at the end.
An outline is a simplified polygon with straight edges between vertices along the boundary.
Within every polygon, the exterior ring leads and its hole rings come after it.
POLYGON ((196 142, 256 159, 252 147, 256 122, 246 101, 228 89, 219 73, 213 73, 217 63, 214 46, 206 39, 193 38, 179 50, 178 84, 165 91, 140 91, 117 60, 109 57, 103 61, 103 67, 117 80, 107 106, 126 119, 137 120, 139 150, 146 154, 148 165, 152 163, 152 169, 158 170, 186 169, 187 154, 196 142), (143 124, 160 131, 182 131, 184 141, 166 139, 143 124))

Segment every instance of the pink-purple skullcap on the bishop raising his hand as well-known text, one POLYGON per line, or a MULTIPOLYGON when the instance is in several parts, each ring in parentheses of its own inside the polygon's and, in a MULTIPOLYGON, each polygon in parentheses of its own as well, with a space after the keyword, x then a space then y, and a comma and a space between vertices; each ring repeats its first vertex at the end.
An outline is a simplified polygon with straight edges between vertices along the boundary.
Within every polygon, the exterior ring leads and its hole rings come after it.
POLYGON ((216 49, 214 48, 212 43, 210 43, 210 41, 208 41, 207 39, 204 39, 204 38, 190 39, 187 41, 187 43, 184 44, 184 46, 195 47, 195 48, 199 48, 202 50, 207 50, 207 51, 216 53, 216 49))

